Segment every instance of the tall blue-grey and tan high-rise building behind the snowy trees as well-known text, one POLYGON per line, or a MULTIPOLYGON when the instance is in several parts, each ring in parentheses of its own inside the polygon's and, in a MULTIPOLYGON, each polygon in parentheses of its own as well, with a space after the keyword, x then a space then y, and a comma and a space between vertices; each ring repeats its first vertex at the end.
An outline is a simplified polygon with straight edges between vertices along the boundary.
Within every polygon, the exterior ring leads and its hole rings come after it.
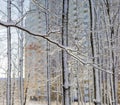
MULTIPOLYGON (((77 49, 78 52, 87 56, 89 54, 89 52, 86 53, 89 45, 88 2, 70 0, 69 5, 68 44, 71 48, 77 49), (84 47, 81 47, 81 45, 84 47)), ((38 34, 47 34, 50 39, 62 43, 62 0, 49 0, 47 5, 43 0, 31 1, 30 11, 31 13, 26 18, 26 28, 38 34)), ((28 96, 43 96, 46 98, 47 92, 50 91, 52 99, 59 100, 62 94, 61 49, 39 37, 27 35, 25 40, 25 88, 29 87, 28 96), (48 82, 50 90, 47 89, 48 82)), ((77 53, 74 54, 76 56, 79 55, 77 53)), ((89 101, 88 82, 92 78, 86 75, 88 74, 88 69, 70 56, 68 65, 69 72, 71 72, 72 99, 74 100, 75 97, 78 97, 79 90, 77 90, 77 86, 79 83, 82 90, 80 94, 82 94, 84 101, 89 101), (79 77, 76 76, 78 71, 79 77), (72 83, 72 81, 74 82, 72 83), (85 81, 86 84, 82 85, 85 81)))

